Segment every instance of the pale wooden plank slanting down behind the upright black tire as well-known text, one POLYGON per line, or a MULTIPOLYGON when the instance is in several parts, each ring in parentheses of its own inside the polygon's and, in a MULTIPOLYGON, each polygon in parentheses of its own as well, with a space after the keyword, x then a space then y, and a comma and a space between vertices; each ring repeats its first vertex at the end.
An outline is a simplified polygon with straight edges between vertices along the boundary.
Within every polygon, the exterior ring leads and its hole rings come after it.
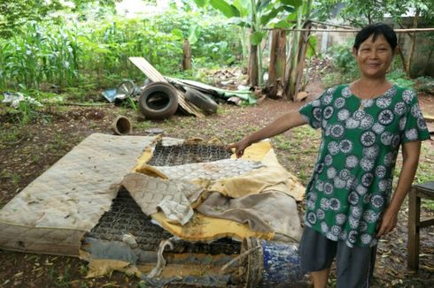
MULTIPOLYGON (((148 61, 146 61, 145 58, 129 57, 128 59, 133 64, 135 64, 136 67, 140 69, 140 71, 142 71, 151 81, 168 83, 164 76, 160 72, 158 72, 157 69, 155 69, 148 61)), ((193 114, 197 117, 205 117, 205 115, 198 109, 197 106, 185 101, 185 96, 183 92, 179 91, 178 89, 176 89, 176 92, 178 95, 178 102, 182 110, 185 110, 186 112, 193 114)))

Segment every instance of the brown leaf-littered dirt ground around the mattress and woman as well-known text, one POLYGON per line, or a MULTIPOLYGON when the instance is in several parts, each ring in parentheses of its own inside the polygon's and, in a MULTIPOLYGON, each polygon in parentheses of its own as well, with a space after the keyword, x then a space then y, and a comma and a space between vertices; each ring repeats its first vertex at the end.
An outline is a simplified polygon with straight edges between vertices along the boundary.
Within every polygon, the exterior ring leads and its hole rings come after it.
MULTIPOLYGON (((315 95, 321 89, 311 87, 311 90, 311 95, 315 95)), ((423 112, 434 115, 434 96, 420 95, 419 98, 423 112)), ((48 106, 36 117, 35 122, 24 126, 18 125, 11 114, 0 113, 0 208, 89 134, 112 133, 110 125, 118 115, 131 119, 134 135, 145 135, 150 128, 161 128, 165 131, 164 135, 170 137, 209 139, 216 136, 224 142, 231 142, 239 140, 244 133, 266 125, 286 111, 297 109, 301 104, 270 99, 252 107, 221 104, 219 112, 212 116, 197 118, 177 114, 170 120, 160 122, 139 121, 136 111, 112 105, 48 106)), ((282 137, 281 142, 288 141, 291 144, 295 134, 284 133, 282 137)), ((300 143, 299 151, 310 151, 316 150, 319 140, 300 143)), ((432 149, 434 141, 424 145, 432 149)), ((299 156, 294 158, 292 155, 297 151, 289 151, 283 145, 276 148, 276 152, 283 166, 300 176, 306 185, 315 154, 299 153, 299 156), (300 175, 300 170, 303 170, 303 175, 300 175)), ((430 163, 431 167, 434 167, 433 157, 422 155, 421 162, 430 163)), ((434 171, 432 173, 434 174, 434 171)), ((302 203, 299 208, 300 211, 303 210, 302 203)), ((433 213, 422 208, 422 216, 433 216, 433 213)), ((405 203, 399 213, 397 229, 385 236, 378 247, 375 286, 434 286, 433 239, 434 227, 422 230, 421 269, 416 274, 409 272, 405 203)), ((97 279, 86 279, 87 272, 87 263, 77 258, 0 249, 0 287, 143 287, 135 277, 118 272, 97 279)), ((330 280, 330 286, 333 286, 333 283, 333 280, 330 280)))

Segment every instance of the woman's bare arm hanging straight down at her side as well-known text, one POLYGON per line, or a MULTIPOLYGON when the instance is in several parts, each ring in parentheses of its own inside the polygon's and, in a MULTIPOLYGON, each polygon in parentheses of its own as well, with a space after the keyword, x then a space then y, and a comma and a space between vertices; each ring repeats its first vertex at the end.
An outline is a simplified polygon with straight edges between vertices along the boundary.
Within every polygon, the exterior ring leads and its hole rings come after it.
POLYGON ((399 208, 401 208, 402 202, 415 179, 420 154, 421 141, 406 142, 402 145, 402 168, 399 173, 398 184, 391 198, 391 203, 384 209, 376 237, 379 238, 396 227, 399 208))

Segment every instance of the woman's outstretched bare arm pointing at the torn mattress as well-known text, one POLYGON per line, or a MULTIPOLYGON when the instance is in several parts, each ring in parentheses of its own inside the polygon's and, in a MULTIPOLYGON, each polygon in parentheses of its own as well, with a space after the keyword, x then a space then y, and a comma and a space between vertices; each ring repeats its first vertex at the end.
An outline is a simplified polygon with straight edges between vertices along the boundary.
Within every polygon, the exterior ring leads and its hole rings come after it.
POLYGON ((236 154, 236 157, 239 158, 244 155, 244 149, 251 146, 253 143, 267 138, 271 138, 275 135, 284 133, 285 131, 290 130, 293 127, 304 125, 306 123, 307 122, 305 118, 301 117, 301 114, 298 112, 298 110, 293 110, 284 114, 282 117, 278 117, 270 125, 267 125, 259 131, 244 137, 243 140, 240 140, 233 144, 229 144, 228 148, 235 148, 234 152, 236 154))

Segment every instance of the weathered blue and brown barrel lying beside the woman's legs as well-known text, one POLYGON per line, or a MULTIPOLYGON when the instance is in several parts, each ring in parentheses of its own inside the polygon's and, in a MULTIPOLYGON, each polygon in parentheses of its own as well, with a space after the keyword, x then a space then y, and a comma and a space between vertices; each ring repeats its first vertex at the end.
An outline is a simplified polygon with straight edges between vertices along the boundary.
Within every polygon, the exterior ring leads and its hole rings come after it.
POLYGON ((246 287, 293 286, 303 279, 298 244, 262 239, 244 239, 240 272, 246 287))

